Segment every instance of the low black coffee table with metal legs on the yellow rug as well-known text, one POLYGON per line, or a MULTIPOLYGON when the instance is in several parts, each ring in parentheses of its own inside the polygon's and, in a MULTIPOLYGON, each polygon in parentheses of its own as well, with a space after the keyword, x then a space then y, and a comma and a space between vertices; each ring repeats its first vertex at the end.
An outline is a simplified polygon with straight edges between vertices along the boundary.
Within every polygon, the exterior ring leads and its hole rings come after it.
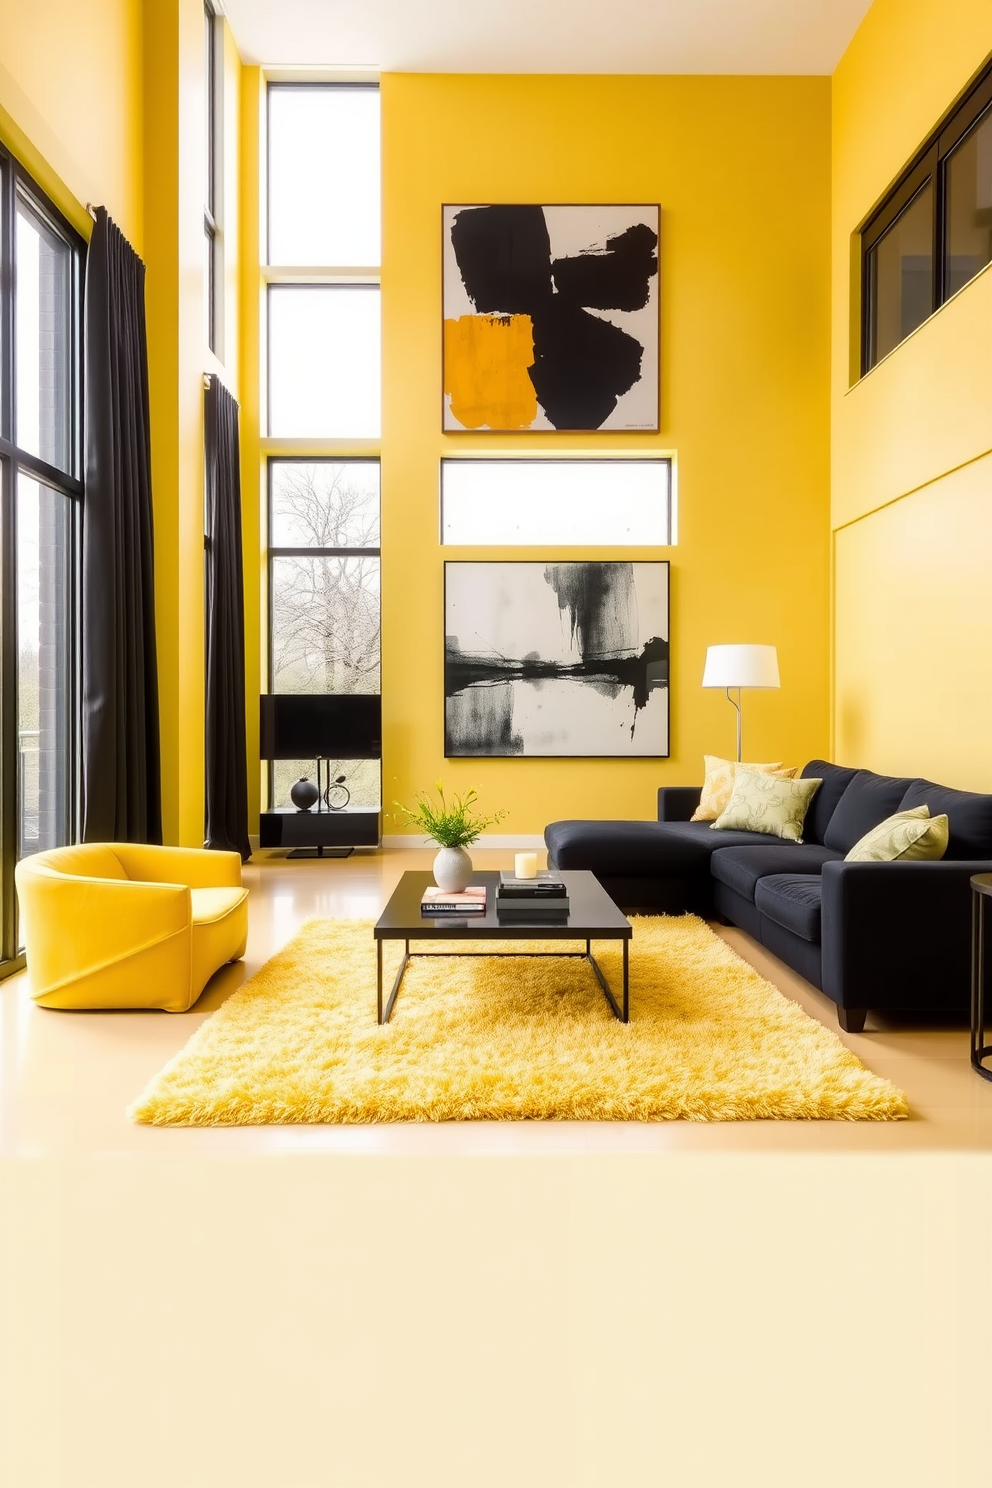
MULTIPOLYGON (((515 915, 512 920, 500 918, 495 909, 498 873, 473 873, 473 884, 486 885, 485 915, 422 915, 421 899, 428 884, 434 882, 433 873, 403 873, 396 885, 393 897, 375 923, 375 952, 376 952, 376 1009, 379 1022, 388 1022, 396 1003, 396 994, 403 981, 406 963, 412 955, 443 955, 442 951, 410 951, 410 940, 584 940, 584 951, 504 951, 504 955, 564 955, 589 961, 610 1012, 620 1022, 629 1022, 628 1006, 628 948, 631 936, 631 921, 613 903, 605 888, 586 869, 574 869, 561 875, 565 879, 568 893, 568 918, 546 920, 534 917, 522 920, 515 915), (382 1006, 382 942, 403 940, 405 951, 400 969, 393 982, 390 998, 382 1006), (610 991, 610 984, 602 975, 596 958, 592 954, 593 940, 623 942, 623 991, 620 1003, 610 991)), ((467 951, 466 955, 492 955, 492 951, 467 951)))

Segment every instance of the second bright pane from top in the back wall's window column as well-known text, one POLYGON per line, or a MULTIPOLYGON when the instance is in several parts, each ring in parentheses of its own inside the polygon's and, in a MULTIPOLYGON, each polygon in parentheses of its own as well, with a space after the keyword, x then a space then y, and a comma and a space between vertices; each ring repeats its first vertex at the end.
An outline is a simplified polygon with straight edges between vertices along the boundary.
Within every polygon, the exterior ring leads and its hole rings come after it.
POLYGON ((379 289, 269 289, 269 434, 379 437, 379 289))

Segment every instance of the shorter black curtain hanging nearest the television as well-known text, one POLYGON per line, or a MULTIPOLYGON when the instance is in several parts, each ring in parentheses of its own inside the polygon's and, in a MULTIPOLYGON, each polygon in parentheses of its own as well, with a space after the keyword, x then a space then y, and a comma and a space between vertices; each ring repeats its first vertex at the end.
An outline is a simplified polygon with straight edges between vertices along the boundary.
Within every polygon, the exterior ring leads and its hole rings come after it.
POLYGON ((207 379, 207 847, 251 857, 238 405, 207 379))

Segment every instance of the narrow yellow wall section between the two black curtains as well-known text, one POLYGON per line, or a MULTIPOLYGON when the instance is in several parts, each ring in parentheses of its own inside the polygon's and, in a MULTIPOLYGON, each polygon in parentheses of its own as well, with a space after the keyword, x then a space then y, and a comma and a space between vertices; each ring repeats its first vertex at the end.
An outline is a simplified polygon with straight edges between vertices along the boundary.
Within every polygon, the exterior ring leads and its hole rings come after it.
POLYGON ((223 360, 205 338, 202 0, 149 0, 144 31, 152 490, 167 842, 204 839, 204 372, 238 388, 239 62, 225 37, 228 155, 223 360))

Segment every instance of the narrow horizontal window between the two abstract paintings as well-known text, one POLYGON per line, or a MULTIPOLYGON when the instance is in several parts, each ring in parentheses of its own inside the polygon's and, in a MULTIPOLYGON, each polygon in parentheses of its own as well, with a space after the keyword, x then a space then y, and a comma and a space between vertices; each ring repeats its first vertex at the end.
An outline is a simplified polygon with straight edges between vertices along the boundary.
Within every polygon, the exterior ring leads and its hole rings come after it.
POLYGON ((671 460, 442 460, 442 542, 665 548, 671 460))

